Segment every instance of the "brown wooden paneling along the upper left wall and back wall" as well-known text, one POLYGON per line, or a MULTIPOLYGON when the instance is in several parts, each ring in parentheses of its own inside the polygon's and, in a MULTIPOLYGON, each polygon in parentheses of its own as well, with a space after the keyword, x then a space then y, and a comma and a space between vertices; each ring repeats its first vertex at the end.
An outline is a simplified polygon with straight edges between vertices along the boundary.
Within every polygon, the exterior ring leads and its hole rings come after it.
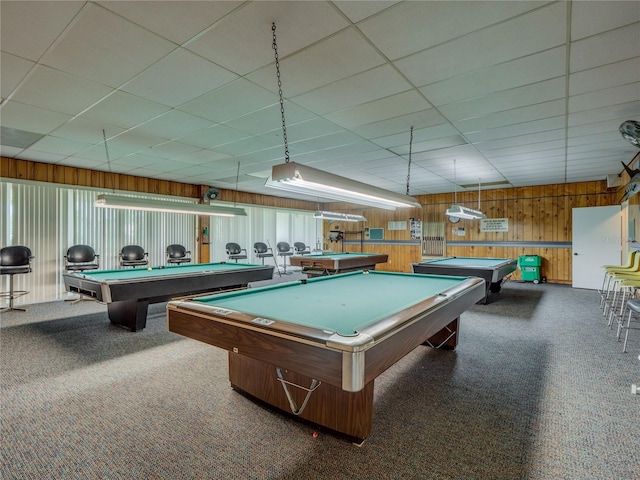
MULTIPOLYGON (((177 195, 200 200, 208 186, 191 185, 168 180, 154 180, 130 175, 110 174, 88 169, 72 169, 60 165, 30 162, 27 160, 0 158, 0 172, 4 178, 55 182, 61 184, 87 186, 105 190, 127 190, 140 193, 158 193, 177 195)), ((365 227, 381 227, 385 229, 385 239, 402 241, 409 239, 407 231, 390 231, 389 221, 408 221, 409 217, 422 218, 423 221, 444 221, 448 242, 466 240, 475 242, 570 242, 571 213, 574 207, 605 206, 619 204, 619 199, 628 182, 626 173, 622 174, 621 187, 607 189, 605 181, 557 184, 538 187, 518 187, 486 190, 481 193, 480 208, 489 218, 507 218, 509 231, 480 232, 480 222, 463 220, 455 226, 464 226, 465 237, 454 237, 453 224, 446 221, 445 210, 454 202, 477 208, 478 191, 453 192, 434 195, 417 196, 424 205, 419 209, 405 211, 387 211, 368 209, 358 205, 329 204, 321 208, 325 210, 343 211, 345 213, 364 214, 368 222, 348 227, 343 230, 364 229, 365 227)), ((317 204, 299 200, 284 199, 270 195, 259 195, 246 192, 220 189, 220 201, 248 205, 262 205, 274 208, 291 208, 300 210, 316 210, 317 204)), ((637 230, 640 231, 640 195, 632 197, 629 205, 630 218, 636 219, 637 230)), ((333 225, 323 223, 326 234, 333 225)), ((640 233, 638 233, 640 236, 640 233)), ((353 240, 350 237, 349 240, 353 240)), ((340 244, 330 244, 340 249, 340 244)), ((208 245, 200 245, 201 261, 208 261, 208 245)), ((346 251, 357 251, 359 244, 345 246, 346 251)), ((422 259, 421 247, 413 245, 366 245, 365 251, 387 253, 390 262, 379 268, 395 271, 410 271, 413 262, 422 259)), ((571 283, 571 248, 526 248, 505 246, 447 246, 447 255, 452 256, 492 256, 517 258, 521 255, 540 255, 543 258, 542 274, 550 282, 571 283)), ((519 278, 519 270, 516 272, 519 278)))

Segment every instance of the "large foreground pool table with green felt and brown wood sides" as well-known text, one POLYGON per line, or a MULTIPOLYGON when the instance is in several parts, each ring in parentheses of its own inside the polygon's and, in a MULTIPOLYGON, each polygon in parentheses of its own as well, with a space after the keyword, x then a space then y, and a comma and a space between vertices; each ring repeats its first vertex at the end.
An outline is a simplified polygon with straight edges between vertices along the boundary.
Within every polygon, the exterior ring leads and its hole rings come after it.
POLYGON ((374 380, 421 344, 453 349, 480 278, 355 271, 167 304, 171 332, 227 350, 238 392, 362 442, 374 380))

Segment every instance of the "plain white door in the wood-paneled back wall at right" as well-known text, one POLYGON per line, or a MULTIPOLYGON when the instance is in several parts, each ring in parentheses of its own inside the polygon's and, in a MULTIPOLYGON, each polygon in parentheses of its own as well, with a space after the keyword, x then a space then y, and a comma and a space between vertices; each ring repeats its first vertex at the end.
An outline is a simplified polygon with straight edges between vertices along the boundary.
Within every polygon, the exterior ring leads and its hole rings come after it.
POLYGON ((573 209, 573 287, 602 287, 602 265, 620 265, 622 253, 620 206, 573 209))

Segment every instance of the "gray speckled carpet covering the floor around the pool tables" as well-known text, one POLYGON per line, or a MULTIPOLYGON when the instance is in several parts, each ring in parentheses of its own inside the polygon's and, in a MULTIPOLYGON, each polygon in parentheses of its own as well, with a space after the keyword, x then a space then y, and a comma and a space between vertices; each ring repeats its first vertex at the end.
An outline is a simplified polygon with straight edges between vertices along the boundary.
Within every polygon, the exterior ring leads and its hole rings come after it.
MULTIPOLYGON (((290 280, 299 274, 283 277, 290 280)), ((91 302, 1 319, 3 479, 640 478, 640 333, 599 296, 510 282, 376 380, 362 447, 234 392, 226 352, 91 302), (635 334, 635 335, 634 335, 635 334)))

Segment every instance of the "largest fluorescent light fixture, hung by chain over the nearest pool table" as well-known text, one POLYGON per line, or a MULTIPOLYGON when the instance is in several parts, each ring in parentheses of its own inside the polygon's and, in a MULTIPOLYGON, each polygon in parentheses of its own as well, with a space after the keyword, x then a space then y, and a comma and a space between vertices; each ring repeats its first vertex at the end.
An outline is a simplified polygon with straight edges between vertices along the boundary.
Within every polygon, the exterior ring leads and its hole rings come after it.
POLYGON ((395 210, 398 207, 421 208, 413 197, 340 177, 295 162, 274 165, 265 186, 341 202, 395 210))

